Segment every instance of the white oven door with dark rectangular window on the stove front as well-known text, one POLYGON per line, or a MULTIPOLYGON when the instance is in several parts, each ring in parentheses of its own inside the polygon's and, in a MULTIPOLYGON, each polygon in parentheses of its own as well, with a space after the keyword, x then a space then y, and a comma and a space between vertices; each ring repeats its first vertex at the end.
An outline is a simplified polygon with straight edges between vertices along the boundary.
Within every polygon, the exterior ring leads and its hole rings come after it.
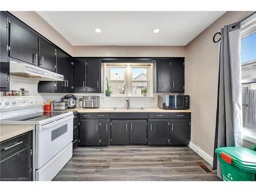
POLYGON ((73 115, 40 125, 36 131, 35 168, 39 169, 65 147, 73 139, 73 115))

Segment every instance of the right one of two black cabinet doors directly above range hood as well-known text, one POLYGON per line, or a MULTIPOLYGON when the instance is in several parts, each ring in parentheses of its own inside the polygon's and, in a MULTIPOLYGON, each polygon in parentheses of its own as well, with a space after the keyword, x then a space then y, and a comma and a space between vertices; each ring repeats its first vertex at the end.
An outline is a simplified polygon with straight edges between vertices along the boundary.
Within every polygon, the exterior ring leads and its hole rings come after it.
POLYGON ((55 72, 57 50, 41 38, 38 39, 38 45, 38 66, 55 72))

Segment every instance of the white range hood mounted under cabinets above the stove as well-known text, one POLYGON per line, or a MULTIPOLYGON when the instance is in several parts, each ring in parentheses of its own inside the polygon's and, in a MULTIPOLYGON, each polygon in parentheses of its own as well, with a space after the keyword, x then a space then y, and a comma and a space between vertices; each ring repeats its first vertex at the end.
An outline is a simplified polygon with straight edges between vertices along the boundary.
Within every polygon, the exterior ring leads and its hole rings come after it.
POLYGON ((38 78, 40 81, 63 81, 63 75, 27 63, 10 60, 10 75, 38 78))

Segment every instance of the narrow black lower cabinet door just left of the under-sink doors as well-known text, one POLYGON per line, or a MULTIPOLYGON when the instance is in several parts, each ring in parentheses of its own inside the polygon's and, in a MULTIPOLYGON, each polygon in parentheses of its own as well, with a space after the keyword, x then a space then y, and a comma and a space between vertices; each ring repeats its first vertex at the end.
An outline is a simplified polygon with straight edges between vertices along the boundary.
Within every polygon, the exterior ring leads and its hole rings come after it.
POLYGON ((100 120, 100 145, 110 145, 110 120, 100 120))

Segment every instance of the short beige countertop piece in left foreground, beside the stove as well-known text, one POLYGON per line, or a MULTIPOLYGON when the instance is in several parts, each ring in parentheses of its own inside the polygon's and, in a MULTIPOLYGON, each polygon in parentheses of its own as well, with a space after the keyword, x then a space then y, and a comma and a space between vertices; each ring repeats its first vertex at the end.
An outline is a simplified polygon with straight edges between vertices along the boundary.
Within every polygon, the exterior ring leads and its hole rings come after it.
POLYGON ((0 142, 29 132, 33 129, 35 129, 34 125, 0 124, 0 142))

